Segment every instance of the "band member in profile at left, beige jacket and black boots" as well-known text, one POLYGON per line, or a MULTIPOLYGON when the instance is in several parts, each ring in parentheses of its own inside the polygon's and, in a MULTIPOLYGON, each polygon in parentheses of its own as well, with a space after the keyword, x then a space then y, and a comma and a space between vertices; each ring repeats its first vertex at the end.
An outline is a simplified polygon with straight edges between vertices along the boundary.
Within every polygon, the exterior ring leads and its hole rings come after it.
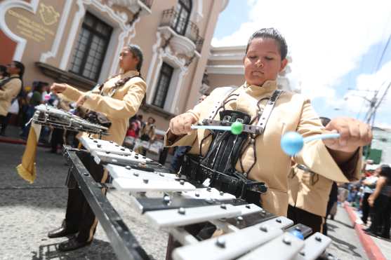
MULTIPOLYGON (((134 116, 145 97, 147 85, 140 77, 143 53, 135 45, 124 47, 119 54, 119 67, 123 73, 107 80, 91 92, 82 93, 67 84, 53 83, 51 91, 86 109, 100 112, 111 121, 107 136, 102 139, 122 144, 128 129, 129 118, 134 116)), ((83 161, 96 182, 105 182, 107 172, 91 158, 83 161)), ((103 191, 105 192, 105 191, 103 191)), ((49 238, 59 238, 77 233, 77 236, 60 243, 60 251, 70 251, 88 245, 98 224, 95 214, 80 189, 69 189, 67 212, 62 226, 48 233, 49 238)))

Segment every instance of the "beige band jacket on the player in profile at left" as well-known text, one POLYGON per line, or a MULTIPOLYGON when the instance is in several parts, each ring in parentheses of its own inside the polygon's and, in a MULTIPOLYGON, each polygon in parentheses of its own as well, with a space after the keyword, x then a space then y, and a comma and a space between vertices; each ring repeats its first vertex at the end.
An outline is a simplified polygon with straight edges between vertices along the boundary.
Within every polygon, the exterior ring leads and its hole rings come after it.
MULTIPOLYGON (((86 109, 105 114, 112 122, 108 132, 109 135, 102 136, 104 140, 114 141, 119 145, 124 142, 126 130, 128 130, 129 126, 129 118, 134 116, 140 108, 147 90, 147 84, 143 81, 143 78, 136 76, 128 80, 124 85, 121 85, 112 97, 107 94, 111 93, 117 81, 135 75, 138 75, 138 71, 128 71, 125 74, 119 74, 114 78, 110 78, 103 85, 102 95, 99 94, 98 88, 94 88, 83 104, 83 107, 86 109)), ((62 96, 67 100, 76 102, 79 100, 79 97, 85 94, 77 90, 77 88, 68 85, 62 96)))

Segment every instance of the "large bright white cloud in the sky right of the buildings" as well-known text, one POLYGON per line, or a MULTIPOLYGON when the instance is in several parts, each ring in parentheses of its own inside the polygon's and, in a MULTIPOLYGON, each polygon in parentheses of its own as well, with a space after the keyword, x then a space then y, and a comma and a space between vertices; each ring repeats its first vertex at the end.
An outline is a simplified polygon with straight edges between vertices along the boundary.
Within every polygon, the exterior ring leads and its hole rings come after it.
POLYGON ((391 28, 390 0, 248 0, 247 4, 248 22, 229 36, 214 38, 213 46, 245 45, 257 29, 279 29, 293 58, 290 77, 311 98, 335 98, 340 78, 358 67, 360 57, 384 40, 391 28))

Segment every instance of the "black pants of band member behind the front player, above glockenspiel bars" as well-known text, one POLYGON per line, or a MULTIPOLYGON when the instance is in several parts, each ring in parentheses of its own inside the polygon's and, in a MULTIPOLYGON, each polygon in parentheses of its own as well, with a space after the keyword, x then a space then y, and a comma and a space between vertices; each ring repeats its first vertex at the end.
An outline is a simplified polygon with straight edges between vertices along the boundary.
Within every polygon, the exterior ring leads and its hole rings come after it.
POLYGON ((324 229, 324 217, 312 214, 298 207, 288 206, 288 216, 295 224, 303 224, 312 228, 312 233, 321 232, 324 229))

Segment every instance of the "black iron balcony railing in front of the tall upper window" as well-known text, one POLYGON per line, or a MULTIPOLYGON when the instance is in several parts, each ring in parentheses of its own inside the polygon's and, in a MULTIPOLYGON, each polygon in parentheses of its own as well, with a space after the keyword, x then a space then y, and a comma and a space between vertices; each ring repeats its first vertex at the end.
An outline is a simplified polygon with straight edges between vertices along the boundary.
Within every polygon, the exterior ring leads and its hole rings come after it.
POLYGON ((201 53, 204 39, 199 36, 198 26, 194 24, 194 22, 180 17, 174 8, 163 11, 160 26, 171 27, 171 29, 173 29, 173 31, 177 34, 190 39, 196 46, 197 52, 201 53))

